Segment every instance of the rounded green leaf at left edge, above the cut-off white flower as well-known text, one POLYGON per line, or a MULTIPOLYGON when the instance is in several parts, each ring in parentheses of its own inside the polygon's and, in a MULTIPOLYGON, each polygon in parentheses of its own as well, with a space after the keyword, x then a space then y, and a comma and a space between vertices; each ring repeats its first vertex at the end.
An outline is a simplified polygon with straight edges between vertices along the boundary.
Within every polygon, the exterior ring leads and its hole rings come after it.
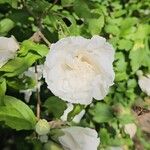
POLYGON ((14 22, 9 19, 5 18, 0 21, 0 35, 5 36, 7 32, 9 32, 15 26, 14 22))

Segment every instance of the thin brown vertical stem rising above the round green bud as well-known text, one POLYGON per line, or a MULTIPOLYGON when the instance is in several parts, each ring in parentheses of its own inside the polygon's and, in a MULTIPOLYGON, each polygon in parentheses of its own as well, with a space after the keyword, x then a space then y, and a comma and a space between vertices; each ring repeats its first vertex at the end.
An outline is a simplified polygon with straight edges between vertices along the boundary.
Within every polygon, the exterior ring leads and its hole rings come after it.
POLYGON ((38 88, 38 70, 37 70, 37 63, 35 63, 35 78, 36 78, 36 97, 37 97, 37 105, 36 105, 36 116, 38 120, 40 119, 40 105, 41 105, 41 99, 40 99, 40 92, 38 88))

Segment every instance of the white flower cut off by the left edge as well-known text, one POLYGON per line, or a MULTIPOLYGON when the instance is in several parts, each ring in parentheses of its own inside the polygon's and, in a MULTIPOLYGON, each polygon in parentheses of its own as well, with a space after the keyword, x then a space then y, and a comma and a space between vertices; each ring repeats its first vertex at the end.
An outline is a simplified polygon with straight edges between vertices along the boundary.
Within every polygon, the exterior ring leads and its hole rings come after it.
POLYGON ((19 44, 13 36, 0 37, 0 68, 15 56, 18 49, 19 44))

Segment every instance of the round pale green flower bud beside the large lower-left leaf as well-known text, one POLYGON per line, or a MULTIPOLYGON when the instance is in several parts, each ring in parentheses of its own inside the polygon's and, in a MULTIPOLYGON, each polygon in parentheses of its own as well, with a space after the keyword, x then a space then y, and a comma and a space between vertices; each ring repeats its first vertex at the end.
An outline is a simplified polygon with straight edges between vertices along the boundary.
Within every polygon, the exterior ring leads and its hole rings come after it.
POLYGON ((45 135, 50 131, 50 125, 45 119, 40 119, 38 123, 35 125, 35 131, 39 135, 45 135))

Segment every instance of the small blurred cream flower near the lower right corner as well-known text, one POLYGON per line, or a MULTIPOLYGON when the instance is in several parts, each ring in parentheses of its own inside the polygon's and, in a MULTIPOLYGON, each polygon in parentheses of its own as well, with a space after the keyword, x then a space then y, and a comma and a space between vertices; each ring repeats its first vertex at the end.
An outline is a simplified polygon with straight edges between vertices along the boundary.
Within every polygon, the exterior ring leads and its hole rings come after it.
POLYGON ((126 134, 130 135, 130 138, 133 138, 137 131, 137 126, 135 123, 128 123, 124 126, 124 131, 126 134))

